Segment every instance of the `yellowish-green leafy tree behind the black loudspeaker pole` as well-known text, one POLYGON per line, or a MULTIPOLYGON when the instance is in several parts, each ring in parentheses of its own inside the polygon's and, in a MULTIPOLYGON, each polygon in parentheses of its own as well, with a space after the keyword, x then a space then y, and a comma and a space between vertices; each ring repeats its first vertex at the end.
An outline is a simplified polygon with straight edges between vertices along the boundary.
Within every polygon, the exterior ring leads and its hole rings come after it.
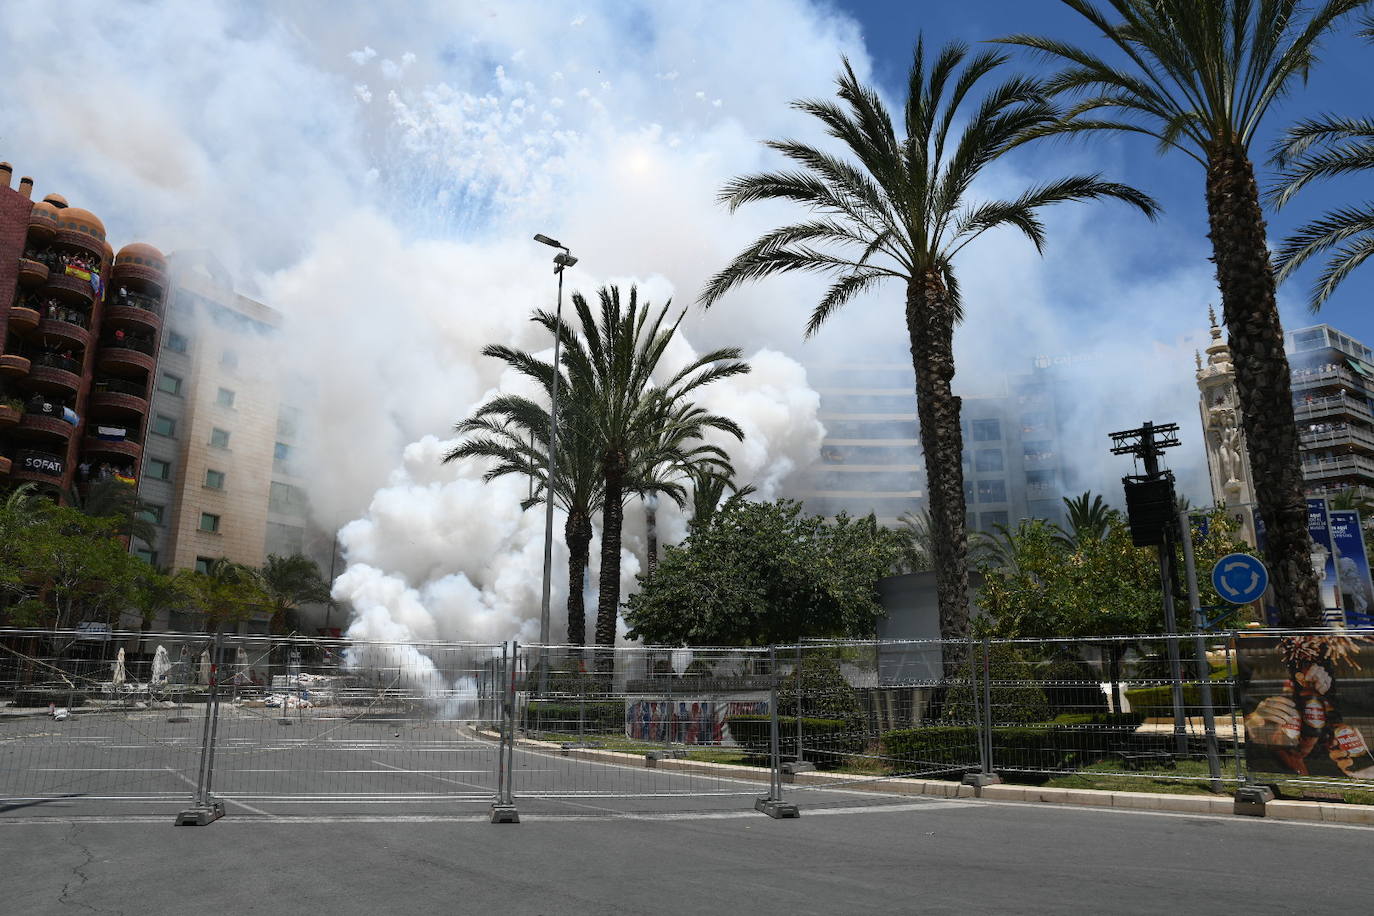
MULTIPOLYGON (((1212 567, 1227 553, 1248 548, 1232 537, 1234 522, 1224 509, 1206 512, 1208 534, 1194 531, 1200 597, 1204 606, 1223 602, 1212 588, 1212 567)), ((1069 636, 1092 639, 1164 632, 1162 592, 1156 548, 1131 544, 1131 530, 1112 512, 1101 538, 1066 544, 1046 522, 1022 523, 1006 531, 1015 562, 984 559, 980 604, 989 629, 1007 637, 1069 636)), ((1182 569, 1182 548, 1176 569, 1182 569)), ((1187 607, 1187 600, 1180 602, 1187 607)), ((1180 625, 1187 628, 1186 611, 1180 625)), ((1112 681, 1117 684, 1121 658, 1129 645, 1103 641, 1112 681)), ((1120 698, 1114 709, 1121 709, 1120 698)))

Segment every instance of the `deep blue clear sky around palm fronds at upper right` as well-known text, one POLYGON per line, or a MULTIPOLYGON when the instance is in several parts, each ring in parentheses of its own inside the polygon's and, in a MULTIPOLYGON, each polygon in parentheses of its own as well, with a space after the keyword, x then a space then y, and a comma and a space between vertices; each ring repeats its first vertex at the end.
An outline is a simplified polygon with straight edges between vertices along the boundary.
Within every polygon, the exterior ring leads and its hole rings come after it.
MULTIPOLYGON (((1105 51, 1105 43, 1091 26, 1068 7, 1052 0, 963 0, 960 3, 912 3, 910 0, 841 0, 831 4, 853 18, 863 30, 863 41, 874 59, 874 74, 889 98, 901 98, 911 62, 911 48, 918 33, 925 33, 927 44, 954 38, 984 41, 1015 32, 1044 33, 1105 51)), ((1276 104, 1268 117, 1254 161, 1261 184, 1272 174, 1267 163, 1272 139, 1290 122, 1322 111, 1341 114, 1374 114, 1374 100, 1366 87, 1369 67, 1374 63, 1374 45, 1349 34, 1334 36, 1323 47, 1320 65, 1308 84, 1289 99, 1276 104)), ((1015 52, 1014 66, 1036 70, 1037 63, 1022 52, 1015 52)), ((1151 141, 1140 139, 1094 137, 1092 146, 1076 143, 1081 151, 1103 150, 1107 177, 1135 184, 1153 195, 1165 207, 1164 220, 1149 227, 1142 224, 1142 246, 1151 246, 1150 233, 1164 232, 1191 244, 1198 258, 1206 258, 1210 246, 1206 239, 1206 209, 1202 199, 1202 172, 1180 154, 1160 157, 1151 141), (1105 148, 1110 146, 1110 152, 1105 148)), ((1028 159, 1048 162, 1062 151, 1044 147, 1028 151, 1028 159)), ((1279 239, 1308 218, 1331 206, 1367 199, 1369 184, 1360 177, 1345 179, 1309 188, 1282 213, 1267 213, 1270 243, 1279 239)), ((1054 244, 1054 240, 1050 242, 1054 244)), ((1147 268, 1145 268, 1147 269, 1147 268)), ((1360 338, 1374 342, 1374 312, 1369 299, 1374 291, 1374 268, 1366 266, 1352 275, 1333 297, 1320 316, 1314 317, 1305 306, 1305 293, 1318 268, 1305 269, 1279 291, 1285 327, 1301 327, 1325 321, 1360 338)))

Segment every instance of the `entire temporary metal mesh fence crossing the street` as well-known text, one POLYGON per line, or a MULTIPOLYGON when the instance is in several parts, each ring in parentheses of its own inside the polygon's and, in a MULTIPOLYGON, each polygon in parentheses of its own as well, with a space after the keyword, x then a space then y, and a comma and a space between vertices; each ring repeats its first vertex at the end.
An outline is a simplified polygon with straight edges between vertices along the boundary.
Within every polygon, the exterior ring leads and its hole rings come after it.
POLYGON ((0 630, 0 813, 790 816, 998 779, 1348 797, 1374 791, 1371 729, 1374 630, 617 650, 0 630))

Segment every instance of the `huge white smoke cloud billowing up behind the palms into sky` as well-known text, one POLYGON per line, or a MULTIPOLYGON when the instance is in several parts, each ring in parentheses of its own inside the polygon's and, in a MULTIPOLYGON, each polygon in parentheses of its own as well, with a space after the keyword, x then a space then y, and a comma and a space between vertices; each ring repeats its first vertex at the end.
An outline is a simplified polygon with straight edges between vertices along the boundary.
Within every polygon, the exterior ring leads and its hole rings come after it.
MULTIPOLYGON (((0 157, 36 176, 37 196, 60 191, 100 214, 115 242, 212 249, 242 291, 284 313, 286 400, 311 420, 309 494, 349 563, 335 595, 354 632, 387 637, 537 632, 543 514, 519 511, 522 481, 481 483, 480 467, 438 463, 455 422, 519 385, 481 347, 547 346, 528 317, 554 304, 551 251, 530 235, 574 249, 567 279, 588 294, 638 277, 653 302, 690 305, 745 243, 800 216, 731 216, 714 201, 723 181, 776 165, 763 139, 820 139, 787 103, 829 96, 841 54, 861 78, 870 70, 855 23, 805 0, 436 0, 404 16, 385 4, 21 0, 7 14, 0 157)), ((1103 155, 1015 158, 987 190, 1070 169, 1112 176, 1103 155)), ((1215 298, 1205 251, 1168 218, 1151 227, 1110 205, 1048 224, 1043 260, 1010 233, 962 257, 956 387, 998 389, 1036 356, 1090 356, 1063 368, 1083 393, 1066 444, 1079 478, 1118 501, 1129 468, 1106 455, 1105 433, 1179 420, 1189 448, 1169 457, 1180 492, 1201 501, 1190 424, 1191 350, 1215 298)), ((910 358, 896 287, 804 343, 822 288, 778 277, 692 308, 675 352, 750 354, 750 375, 701 401, 746 428, 724 445, 765 499, 796 493, 816 456, 802 364, 910 358)), ((672 542, 684 520, 664 507, 660 527, 672 542)), ((642 538, 632 504, 622 589, 642 538)), ((588 597, 595 575, 594 563, 588 597)))

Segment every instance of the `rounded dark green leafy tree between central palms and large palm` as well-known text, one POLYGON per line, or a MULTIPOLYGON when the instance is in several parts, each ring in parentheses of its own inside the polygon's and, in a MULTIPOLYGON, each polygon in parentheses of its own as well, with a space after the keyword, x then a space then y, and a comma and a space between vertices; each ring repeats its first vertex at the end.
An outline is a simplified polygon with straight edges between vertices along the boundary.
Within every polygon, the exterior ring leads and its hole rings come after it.
POLYGON ((877 582, 899 553, 870 515, 827 522, 800 503, 731 497, 642 577, 631 639, 666 645, 767 645, 872 636, 877 582))

